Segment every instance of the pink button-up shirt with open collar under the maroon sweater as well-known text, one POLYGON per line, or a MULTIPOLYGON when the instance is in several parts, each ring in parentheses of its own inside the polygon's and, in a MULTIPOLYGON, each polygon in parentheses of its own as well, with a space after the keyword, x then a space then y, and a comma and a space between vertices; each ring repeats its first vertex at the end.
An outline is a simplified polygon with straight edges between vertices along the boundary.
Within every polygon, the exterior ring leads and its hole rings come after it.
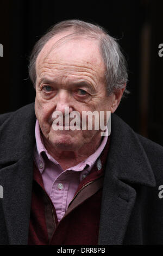
MULTIPOLYGON (((102 153, 108 136, 103 137, 101 145, 99 145, 95 153, 87 157, 83 162, 77 164, 77 166, 70 167, 66 170, 63 170, 59 162, 48 154, 43 145, 38 120, 36 120, 35 125, 35 138, 34 161, 40 170, 43 185, 54 204, 58 221, 60 221, 68 208, 68 204, 70 204, 73 199, 80 181, 89 174, 99 155, 102 153)), ((100 159, 97 164, 98 169, 101 168, 100 159)))

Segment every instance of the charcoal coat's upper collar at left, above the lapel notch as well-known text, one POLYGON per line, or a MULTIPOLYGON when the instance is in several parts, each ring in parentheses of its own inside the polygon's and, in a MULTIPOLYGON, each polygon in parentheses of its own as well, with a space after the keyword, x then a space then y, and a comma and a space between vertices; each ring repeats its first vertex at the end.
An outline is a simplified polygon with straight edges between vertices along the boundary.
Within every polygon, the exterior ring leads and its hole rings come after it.
POLYGON ((0 127, 0 166, 17 162, 31 150, 35 141, 34 103, 10 114, 0 127))

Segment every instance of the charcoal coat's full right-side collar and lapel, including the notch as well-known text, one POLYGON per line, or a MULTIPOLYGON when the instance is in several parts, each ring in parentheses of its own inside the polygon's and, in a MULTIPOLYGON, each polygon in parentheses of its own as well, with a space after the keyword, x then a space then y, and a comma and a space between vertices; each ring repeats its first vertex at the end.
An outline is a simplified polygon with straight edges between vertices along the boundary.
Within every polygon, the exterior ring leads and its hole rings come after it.
POLYGON ((154 174, 139 137, 114 114, 103 184, 99 245, 123 244, 136 200, 133 184, 154 187, 154 174))

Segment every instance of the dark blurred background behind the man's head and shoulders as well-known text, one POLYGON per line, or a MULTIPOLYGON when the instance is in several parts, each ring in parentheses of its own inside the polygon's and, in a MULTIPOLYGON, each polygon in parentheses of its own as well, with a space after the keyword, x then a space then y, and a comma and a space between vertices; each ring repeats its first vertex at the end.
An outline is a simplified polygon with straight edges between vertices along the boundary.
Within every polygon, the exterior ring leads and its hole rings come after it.
POLYGON ((54 23, 82 19, 98 23, 119 43, 128 60, 131 94, 116 113, 134 131, 163 145, 163 1, 1 1, 0 113, 35 99, 28 58, 35 42, 54 23), (88 5, 88 3, 90 5, 88 5))

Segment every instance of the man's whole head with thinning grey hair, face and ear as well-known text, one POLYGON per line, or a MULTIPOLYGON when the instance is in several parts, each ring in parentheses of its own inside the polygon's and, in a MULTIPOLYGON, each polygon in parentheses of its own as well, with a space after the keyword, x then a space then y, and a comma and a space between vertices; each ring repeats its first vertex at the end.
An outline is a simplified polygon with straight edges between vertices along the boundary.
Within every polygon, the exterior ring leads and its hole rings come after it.
POLYGON ((76 20, 58 23, 37 42, 29 74, 45 144, 67 151, 98 144, 100 130, 54 131, 53 113, 64 114, 66 107, 81 117, 83 111, 114 113, 127 82, 125 60, 115 39, 98 26, 76 20))

